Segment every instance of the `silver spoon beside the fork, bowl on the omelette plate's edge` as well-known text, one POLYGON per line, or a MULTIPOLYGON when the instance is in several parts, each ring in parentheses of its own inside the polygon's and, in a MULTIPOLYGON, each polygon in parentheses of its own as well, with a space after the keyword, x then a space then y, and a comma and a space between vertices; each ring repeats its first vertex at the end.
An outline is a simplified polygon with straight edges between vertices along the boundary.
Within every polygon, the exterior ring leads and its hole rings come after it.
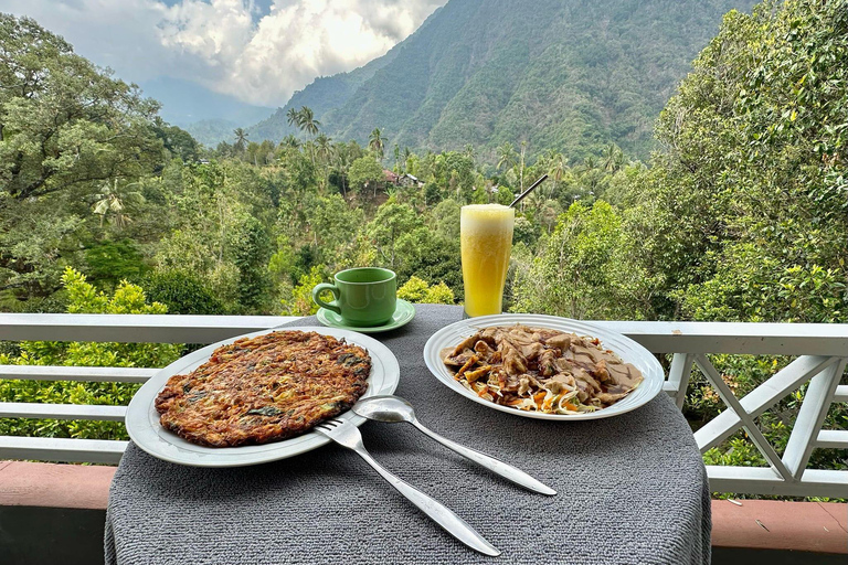
POLYGON ((363 418, 373 419, 377 422, 388 422, 391 424, 406 422, 412 424, 443 446, 453 449, 457 454, 467 459, 470 459, 477 465, 500 475, 505 479, 508 479, 534 492, 541 492, 542 494, 548 495, 556 494, 555 490, 533 479, 521 469, 512 467, 511 465, 507 465, 504 461, 499 461, 494 457, 489 457, 488 455, 481 454, 475 449, 460 446, 456 441, 452 441, 445 437, 439 436, 435 431, 425 428, 415 417, 415 411, 412 409, 412 405, 400 396, 369 396, 368 398, 362 398, 357 404, 354 404, 351 411, 353 411, 353 414, 358 414, 363 418))

